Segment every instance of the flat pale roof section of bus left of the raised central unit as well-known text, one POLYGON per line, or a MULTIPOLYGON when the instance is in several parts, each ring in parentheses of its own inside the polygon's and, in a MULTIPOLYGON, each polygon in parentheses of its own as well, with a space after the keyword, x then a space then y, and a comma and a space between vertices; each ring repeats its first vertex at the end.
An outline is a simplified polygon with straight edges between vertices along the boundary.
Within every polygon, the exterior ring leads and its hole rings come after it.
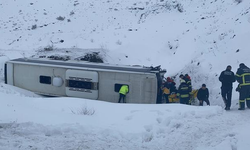
POLYGON ((15 64, 14 72, 14 85, 17 87, 45 95, 66 96, 65 83, 60 87, 53 86, 53 77, 65 80, 66 69, 15 64), (51 78, 51 82, 43 83, 41 77, 44 76, 51 78))

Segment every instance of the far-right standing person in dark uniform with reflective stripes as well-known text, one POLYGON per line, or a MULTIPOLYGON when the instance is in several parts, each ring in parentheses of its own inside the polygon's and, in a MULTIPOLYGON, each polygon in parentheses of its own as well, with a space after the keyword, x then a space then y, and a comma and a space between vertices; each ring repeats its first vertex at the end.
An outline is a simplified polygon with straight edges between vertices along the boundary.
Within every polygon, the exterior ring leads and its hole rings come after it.
POLYGON ((239 83, 240 92, 239 110, 245 109, 245 100, 247 100, 247 107, 250 108, 250 69, 244 63, 240 64, 236 72, 236 80, 239 83))

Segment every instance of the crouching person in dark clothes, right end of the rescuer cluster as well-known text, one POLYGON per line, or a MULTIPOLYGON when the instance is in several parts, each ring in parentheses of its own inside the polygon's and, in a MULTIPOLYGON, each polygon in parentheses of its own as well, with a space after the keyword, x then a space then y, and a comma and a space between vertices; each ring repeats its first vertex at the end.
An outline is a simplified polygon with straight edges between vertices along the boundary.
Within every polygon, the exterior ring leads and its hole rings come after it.
POLYGON ((198 91, 197 94, 197 98, 199 100, 199 105, 203 106, 203 102, 205 101, 207 103, 207 105, 210 106, 210 102, 209 102, 209 91, 208 88, 206 87, 206 84, 202 84, 201 88, 198 91))

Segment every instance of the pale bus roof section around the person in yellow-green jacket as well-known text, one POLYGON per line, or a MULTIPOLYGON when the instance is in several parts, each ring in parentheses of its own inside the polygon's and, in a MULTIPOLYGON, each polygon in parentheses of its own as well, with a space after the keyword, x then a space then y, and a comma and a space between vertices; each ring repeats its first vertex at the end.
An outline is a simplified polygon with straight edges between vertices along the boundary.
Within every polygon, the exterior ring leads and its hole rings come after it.
POLYGON ((134 74, 121 72, 99 72, 99 100, 117 103, 119 92, 116 84, 129 86, 127 103, 156 103, 157 79, 155 74, 134 74))

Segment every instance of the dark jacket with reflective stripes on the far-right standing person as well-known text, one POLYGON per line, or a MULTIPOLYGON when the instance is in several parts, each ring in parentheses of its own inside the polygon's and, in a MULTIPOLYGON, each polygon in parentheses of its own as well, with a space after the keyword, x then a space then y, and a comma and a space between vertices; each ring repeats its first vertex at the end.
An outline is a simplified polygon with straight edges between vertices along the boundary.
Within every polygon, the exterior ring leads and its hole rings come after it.
POLYGON ((250 69, 247 66, 240 67, 236 72, 236 79, 240 86, 250 85, 250 69))

